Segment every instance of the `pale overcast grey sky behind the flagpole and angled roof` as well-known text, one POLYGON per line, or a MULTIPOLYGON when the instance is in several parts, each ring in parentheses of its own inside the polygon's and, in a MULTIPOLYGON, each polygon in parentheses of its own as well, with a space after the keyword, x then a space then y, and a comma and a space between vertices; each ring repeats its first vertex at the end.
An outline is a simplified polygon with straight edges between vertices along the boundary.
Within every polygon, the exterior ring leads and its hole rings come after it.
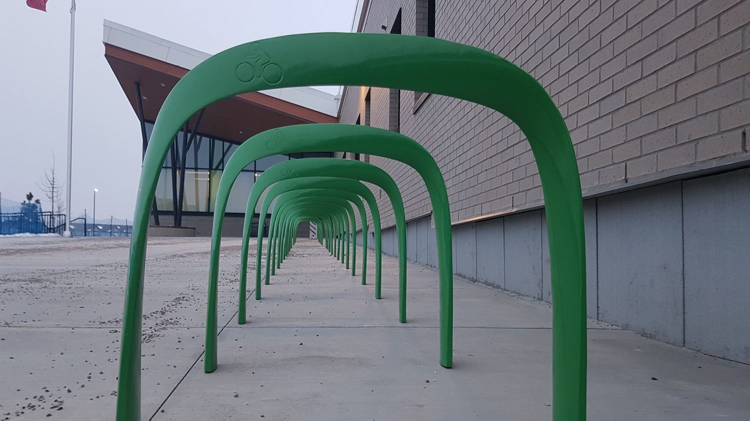
MULTIPOLYGON (((350 31, 356 0, 77 0, 72 213, 132 219, 141 135, 102 44, 103 19, 215 54, 266 37, 350 31)), ((65 178, 70 0, 0 1, 0 193, 21 202, 52 166, 65 178)), ((330 88, 329 88, 330 89, 330 88)))

